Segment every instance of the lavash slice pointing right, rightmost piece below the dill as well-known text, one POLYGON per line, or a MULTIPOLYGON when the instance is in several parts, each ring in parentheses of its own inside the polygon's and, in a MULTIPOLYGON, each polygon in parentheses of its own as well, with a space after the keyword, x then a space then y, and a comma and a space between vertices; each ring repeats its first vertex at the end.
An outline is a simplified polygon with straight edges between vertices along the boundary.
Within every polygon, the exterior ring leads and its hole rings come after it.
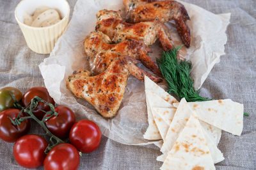
POLYGON ((243 130, 244 105, 230 99, 190 102, 198 118, 234 135, 243 130))

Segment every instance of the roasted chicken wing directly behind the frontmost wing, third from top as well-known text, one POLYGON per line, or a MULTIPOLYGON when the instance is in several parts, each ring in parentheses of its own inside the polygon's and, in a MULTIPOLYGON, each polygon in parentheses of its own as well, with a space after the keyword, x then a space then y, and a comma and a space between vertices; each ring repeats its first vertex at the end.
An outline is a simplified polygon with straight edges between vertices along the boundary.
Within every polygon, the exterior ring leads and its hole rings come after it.
MULTIPOLYGON (((153 73, 161 76, 158 66, 147 54, 150 52, 150 49, 145 43, 133 39, 124 40, 120 43, 110 43, 110 38, 100 31, 92 32, 90 35, 86 36, 84 40, 84 50, 88 56, 93 75, 104 72, 114 58, 125 55, 140 60, 141 63, 152 70, 153 73)), ((146 74, 149 76, 149 73, 146 74)), ((136 75, 134 76, 136 77, 136 75)), ((154 79, 158 80, 156 78, 154 79)))

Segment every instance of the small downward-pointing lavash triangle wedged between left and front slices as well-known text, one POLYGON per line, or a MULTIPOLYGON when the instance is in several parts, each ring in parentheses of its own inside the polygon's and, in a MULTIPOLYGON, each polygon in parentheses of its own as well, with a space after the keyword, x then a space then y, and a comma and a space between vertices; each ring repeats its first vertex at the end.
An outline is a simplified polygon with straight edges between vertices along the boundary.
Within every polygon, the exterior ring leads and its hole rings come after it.
POLYGON ((165 138, 176 109, 153 107, 153 117, 162 139, 165 138))

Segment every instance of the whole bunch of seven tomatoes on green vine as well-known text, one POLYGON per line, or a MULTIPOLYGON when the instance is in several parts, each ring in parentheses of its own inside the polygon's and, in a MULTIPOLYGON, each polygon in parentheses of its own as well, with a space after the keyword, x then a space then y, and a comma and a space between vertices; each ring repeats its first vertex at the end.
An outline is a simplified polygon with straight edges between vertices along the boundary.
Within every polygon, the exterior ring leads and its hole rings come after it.
POLYGON ((15 143, 13 156, 26 168, 44 164, 44 169, 77 169, 81 153, 90 153, 100 144, 101 132, 90 120, 76 122, 74 112, 55 107, 46 88, 34 87, 23 95, 17 88, 0 89, 0 138, 15 143), (28 134, 30 121, 45 131, 44 137, 28 134))

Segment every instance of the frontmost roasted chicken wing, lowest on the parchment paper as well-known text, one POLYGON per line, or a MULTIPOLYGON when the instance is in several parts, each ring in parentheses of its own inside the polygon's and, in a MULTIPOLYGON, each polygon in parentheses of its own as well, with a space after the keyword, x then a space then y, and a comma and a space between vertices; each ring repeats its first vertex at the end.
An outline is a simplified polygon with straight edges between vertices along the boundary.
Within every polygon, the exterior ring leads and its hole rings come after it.
POLYGON ((67 88, 78 98, 84 98, 105 118, 115 116, 130 74, 143 72, 134 65, 134 59, 128 56, 115 58, 109 67, 99 75, 91 77, 88 70, 78 70, 66 81, 67 88))

